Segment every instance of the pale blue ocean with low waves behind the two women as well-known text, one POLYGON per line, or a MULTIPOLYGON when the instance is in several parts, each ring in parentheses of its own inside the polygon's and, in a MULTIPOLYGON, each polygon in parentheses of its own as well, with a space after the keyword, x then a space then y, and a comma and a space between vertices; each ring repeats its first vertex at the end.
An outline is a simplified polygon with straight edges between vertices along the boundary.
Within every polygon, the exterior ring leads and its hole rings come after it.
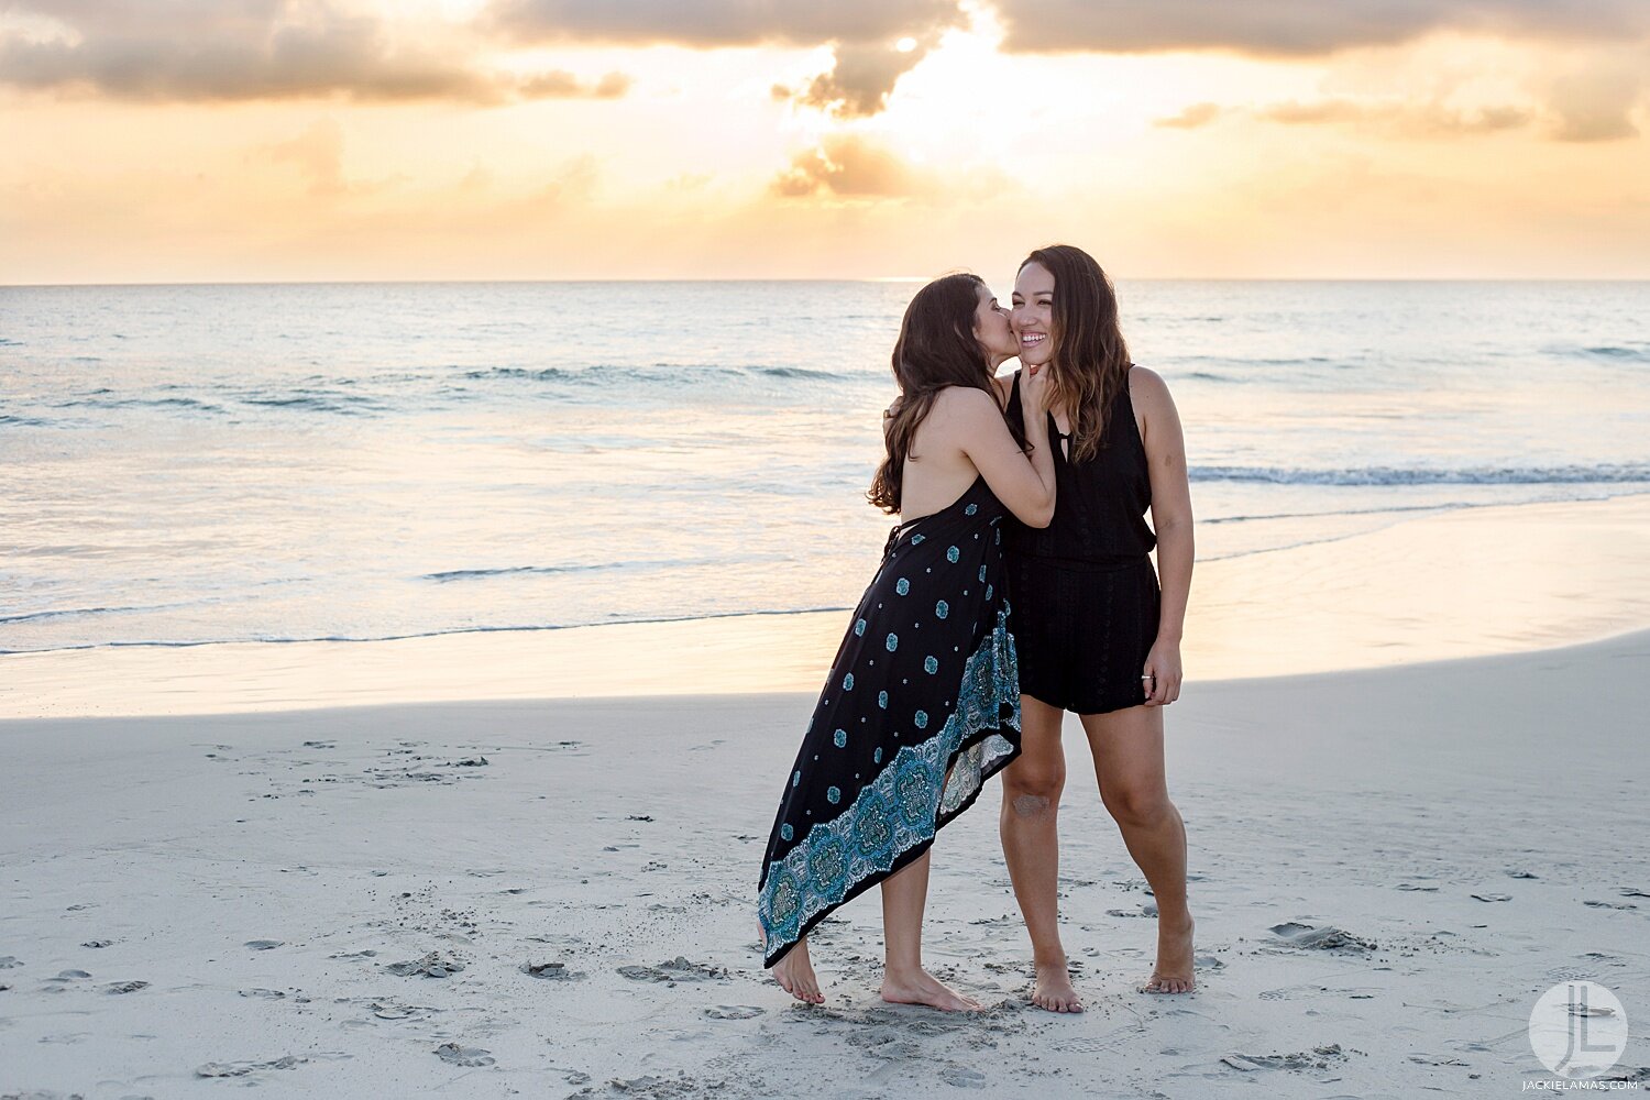
MULTIPOLYGON (((914 290, 0 287, 0 651, 851 607, 914 290)), ((1650 284, 1119 299, 1203 561, 1650 493, 1650 284)))

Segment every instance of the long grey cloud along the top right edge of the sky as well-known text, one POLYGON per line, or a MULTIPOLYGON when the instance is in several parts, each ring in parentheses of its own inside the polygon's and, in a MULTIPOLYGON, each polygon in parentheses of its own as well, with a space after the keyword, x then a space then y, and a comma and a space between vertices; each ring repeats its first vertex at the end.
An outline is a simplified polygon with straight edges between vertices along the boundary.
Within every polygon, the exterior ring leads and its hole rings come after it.
POLYGON ((1429 31, 1612 40, 1650 35, 1645 0, 993 0, 1005 49, 1228 49, 1310 56, 1429 31))

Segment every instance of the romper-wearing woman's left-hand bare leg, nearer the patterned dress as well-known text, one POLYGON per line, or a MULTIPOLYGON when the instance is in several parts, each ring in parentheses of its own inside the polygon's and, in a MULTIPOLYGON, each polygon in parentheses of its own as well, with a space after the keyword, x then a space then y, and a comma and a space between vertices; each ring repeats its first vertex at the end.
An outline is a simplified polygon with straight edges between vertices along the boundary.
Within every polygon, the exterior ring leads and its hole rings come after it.
POLYGON ((1000 831, 1008 877, 1031 933, 1036 985, 1031 1001, 1054 1013, 1081 1013, 1071 988, 1066 948, 1059 943, 1059 792, 1066 785, 1066 750, 1059 724, 1066 712, 1020 696, 1020 757, 1003 769, 1000 831))

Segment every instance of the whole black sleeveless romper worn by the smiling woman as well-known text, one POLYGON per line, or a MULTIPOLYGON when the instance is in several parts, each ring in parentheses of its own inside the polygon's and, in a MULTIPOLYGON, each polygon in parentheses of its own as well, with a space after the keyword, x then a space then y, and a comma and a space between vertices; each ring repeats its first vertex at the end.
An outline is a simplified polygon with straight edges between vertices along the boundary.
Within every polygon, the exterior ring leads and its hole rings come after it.
MULTIPOLYGON (((1020 374, 1008 416, 1018 419, 1020 374)), ((1008 599, 1015 605, 1020 691, 1077 714, 1145 703, 1140 679, 1157 642, 1158 587, 1147 526, 1152 477, 1127 379, 1112 402, 1101 450, 1072 463, 1054 414, 1054 521, 1003 521, 1008 599)))

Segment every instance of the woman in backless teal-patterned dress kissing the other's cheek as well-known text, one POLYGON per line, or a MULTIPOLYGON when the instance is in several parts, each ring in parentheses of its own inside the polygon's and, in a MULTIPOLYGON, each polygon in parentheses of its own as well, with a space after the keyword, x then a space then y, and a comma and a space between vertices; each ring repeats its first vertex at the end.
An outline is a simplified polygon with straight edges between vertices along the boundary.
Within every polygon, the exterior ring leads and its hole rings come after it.
POLYGON ((978 1008, 922 970, 922 907, 934 834, 1020 750, 1000 526, 1006 513, 1049 521, 1054 460, 1043 386, 1025 388, 1023 430, 997 402, 992 374, 1015 350, 975 275, 922 287, 899 327, 899 397, 868 496, 901 524, 837 651, 762 859, 764 961, 800 1001, 825 1001, 808 930, 881 884, 883 999, 978 1008))

